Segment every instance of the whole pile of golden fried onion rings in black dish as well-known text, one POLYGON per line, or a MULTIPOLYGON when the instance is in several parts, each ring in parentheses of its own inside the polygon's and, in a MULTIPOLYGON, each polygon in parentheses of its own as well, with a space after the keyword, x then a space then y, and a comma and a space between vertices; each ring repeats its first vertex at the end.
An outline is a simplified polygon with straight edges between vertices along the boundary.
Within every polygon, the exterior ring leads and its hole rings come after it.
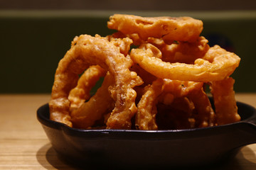
POLYGON ((230 77, 240 57, 210 47, 201 36, 202 21, 114 14, 107 26, 117 32, 75 37, 60 60, 50 120, 80 129, 136 130, 240 121, 230 77))

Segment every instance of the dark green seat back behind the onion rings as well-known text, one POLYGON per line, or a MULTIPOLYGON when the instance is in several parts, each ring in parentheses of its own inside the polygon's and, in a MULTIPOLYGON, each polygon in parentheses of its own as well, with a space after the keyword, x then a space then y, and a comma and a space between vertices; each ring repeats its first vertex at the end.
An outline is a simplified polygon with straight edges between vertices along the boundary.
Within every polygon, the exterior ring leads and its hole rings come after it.
POLYGON ((76 35, 113 33, 113 13, 140 16, 191 16, 204 23, 203 36, 240 58, 235 91, 256 92, 256 11, 0 11, 0 93, 50 93, 59 60, 76 35))

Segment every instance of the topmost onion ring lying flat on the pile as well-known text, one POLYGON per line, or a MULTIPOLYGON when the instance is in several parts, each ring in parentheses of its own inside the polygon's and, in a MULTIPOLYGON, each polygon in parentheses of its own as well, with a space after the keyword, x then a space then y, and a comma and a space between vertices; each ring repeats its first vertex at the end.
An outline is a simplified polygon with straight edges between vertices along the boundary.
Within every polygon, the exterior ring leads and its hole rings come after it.
POLYGON ((141 17, 122 14, 110 16, 107 26, 124 34, 137 33, 142 40, 152 37, 188 42, 196 41, 203 30, 203 22, 191 17, 141 17))

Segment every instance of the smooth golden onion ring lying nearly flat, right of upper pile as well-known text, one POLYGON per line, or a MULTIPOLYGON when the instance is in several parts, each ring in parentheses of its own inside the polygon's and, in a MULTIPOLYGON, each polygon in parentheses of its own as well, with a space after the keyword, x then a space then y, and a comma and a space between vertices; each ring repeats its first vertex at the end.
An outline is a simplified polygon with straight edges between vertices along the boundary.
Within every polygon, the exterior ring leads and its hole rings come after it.
POLYGON ((195 60, 194 64, 163 62, 154 53, 144 44, 139 49, 132 49, 130 56, 156 77, 181 81, 219 81, 232 74, 240 62, 240 57, 218 45, 210 47, 206 55, 195 60))

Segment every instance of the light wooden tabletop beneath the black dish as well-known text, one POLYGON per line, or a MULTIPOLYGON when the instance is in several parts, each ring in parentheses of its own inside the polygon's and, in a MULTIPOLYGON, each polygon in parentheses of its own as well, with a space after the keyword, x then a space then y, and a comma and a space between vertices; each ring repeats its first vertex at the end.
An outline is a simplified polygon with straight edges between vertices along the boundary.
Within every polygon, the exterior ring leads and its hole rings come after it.
MULTIPOLYGON (((256 107, 256 94, 237 94, 238 101, 256 107)), ((57 157, 36 110, 49 94, 0 95, 0 169, 75 169, 57 157)), ((256 144, 247 145, 232 162, 210 169, 256 169, 256 144)))

